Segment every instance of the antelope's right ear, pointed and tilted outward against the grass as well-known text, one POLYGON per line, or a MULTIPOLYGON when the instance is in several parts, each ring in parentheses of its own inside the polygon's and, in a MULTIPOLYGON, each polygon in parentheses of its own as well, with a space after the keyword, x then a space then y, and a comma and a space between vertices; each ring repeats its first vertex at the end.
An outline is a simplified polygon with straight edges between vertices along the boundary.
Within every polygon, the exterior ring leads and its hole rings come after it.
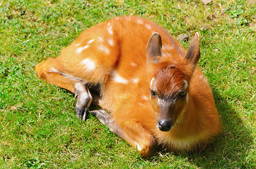
POLYGON ((192 64, 193 68, 196 68, 200 58, 199 34, 197 32, 187 50, 185 58, 187 58, 188 63, 192 64))

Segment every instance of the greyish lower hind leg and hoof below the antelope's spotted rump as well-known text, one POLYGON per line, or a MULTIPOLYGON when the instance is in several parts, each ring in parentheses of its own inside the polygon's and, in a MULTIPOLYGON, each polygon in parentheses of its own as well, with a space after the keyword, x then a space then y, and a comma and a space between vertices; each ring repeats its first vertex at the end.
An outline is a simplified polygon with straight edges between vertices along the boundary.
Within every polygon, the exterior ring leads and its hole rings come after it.
POLYGON ((74 85, 74 93, 77 99, 76 116, 81 120, 86 120, 88 118, 89 106, 91 105, 91 101, 93 100, 87 84, 77 82, 74 85))

